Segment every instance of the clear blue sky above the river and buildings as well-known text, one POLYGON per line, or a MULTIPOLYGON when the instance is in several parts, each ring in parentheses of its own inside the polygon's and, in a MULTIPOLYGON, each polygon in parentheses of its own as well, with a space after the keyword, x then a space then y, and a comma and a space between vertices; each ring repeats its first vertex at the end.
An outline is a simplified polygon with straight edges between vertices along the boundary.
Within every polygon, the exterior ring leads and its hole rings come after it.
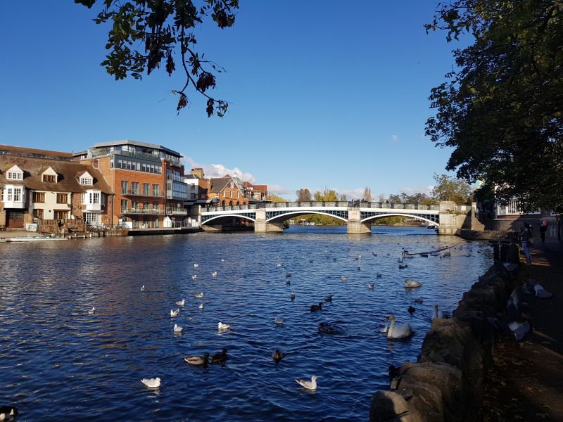
POLYGON ((71 0, 8 1, 0 15, 0 143, 82 151, 101 141, 159 143, 207 174, 238 170, 294 198, 334 188, 360 198, 426 191, 450 151, 424 136, 431 87, 455 44, 426 35, 435 1, 241 1, 234 27, 206 22, 198 49, 227 72, 180 115, 182 75, 115 82, 99 63, 106 27, 71 0))

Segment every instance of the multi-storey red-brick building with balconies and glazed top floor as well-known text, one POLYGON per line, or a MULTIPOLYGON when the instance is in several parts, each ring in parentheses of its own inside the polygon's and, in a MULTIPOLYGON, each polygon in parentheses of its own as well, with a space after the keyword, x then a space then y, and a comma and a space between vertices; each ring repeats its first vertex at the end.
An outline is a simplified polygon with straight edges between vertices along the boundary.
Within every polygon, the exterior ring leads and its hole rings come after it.
POLYGON ((112 224, 132 228, 163 227, 187 218, 184 201, 182 155, 164 146, 139 141, 96 143, 75 154, 81 162, 99 169, 114 193, 109 210, 112 224))

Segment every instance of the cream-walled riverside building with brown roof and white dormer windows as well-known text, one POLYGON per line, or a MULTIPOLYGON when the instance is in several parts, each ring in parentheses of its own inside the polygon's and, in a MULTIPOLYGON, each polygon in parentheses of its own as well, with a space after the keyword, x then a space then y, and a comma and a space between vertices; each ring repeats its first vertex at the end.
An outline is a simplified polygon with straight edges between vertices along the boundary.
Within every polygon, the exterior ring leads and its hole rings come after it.
POLYGON ((107 224, 111 189, 72 153, 0 146, 0 226, 24 228, 41 220, 84 219, 107 224))

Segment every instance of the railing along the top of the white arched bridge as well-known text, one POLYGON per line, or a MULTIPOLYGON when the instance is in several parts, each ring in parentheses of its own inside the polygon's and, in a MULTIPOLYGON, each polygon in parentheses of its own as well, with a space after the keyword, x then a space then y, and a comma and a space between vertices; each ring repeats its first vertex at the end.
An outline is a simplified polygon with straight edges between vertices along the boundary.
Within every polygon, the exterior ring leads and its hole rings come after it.
POLYGON ((419 203, 373 203, 362 201, 305 201, 285 203, 258 203, 248 205, 225 205, 220 207, 202 207, 203 212, 230 211, 230 210, 256 210, 257 208, 289 208, 289 207, 358 207, 358 208, 386 208, 389 210, 440 210, 437 204, 419 203))

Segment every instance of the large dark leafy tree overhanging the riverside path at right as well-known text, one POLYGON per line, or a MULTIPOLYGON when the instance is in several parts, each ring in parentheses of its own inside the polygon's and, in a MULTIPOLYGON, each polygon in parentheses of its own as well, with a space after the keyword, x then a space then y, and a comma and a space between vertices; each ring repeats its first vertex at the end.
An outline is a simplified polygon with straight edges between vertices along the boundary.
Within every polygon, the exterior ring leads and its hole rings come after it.
POLYGON ((447 39, 457 69, 431 90, 436 116, 426 134, 453 147, 447 170, 503 203, 526 210, 563 207, 563 2, 456 0, 438 5, 426 30, 447 39))

